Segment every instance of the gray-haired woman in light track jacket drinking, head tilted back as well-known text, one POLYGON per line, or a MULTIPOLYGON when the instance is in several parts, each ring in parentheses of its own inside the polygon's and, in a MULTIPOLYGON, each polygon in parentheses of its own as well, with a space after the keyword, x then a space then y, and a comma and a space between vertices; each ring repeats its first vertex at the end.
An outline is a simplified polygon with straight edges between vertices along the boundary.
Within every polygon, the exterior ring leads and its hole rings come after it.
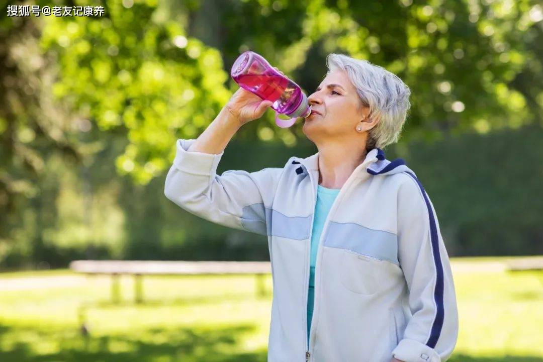
POLYGON ((330 54, 327 65, 303 128, 317 154, 217 175, 231 137, 271 105, 239 88, 198 139, 178 140, 165 194, 268 237, 268 361, 444 361, 458 314, 437 216, 415 173, 383 152, 409 88, 368 61, 330 54))

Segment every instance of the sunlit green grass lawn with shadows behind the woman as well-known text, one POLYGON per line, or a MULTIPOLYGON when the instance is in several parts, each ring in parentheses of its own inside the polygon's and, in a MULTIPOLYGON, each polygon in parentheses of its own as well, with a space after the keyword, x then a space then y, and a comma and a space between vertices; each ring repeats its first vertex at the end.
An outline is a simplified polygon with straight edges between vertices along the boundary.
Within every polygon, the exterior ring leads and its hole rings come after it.
MULTIPOLYGON (((453 259, 454 362, 543 362, 543 273, 505 259, 453 259)), ((0 361, 266 361, 271 295, 251 276, 146 277, 146 303, 110 303, 110 279, 70 271, 0 274, 0 361), (89 335, 80 332, 85 320, 89 335)), ((271 290, 271 276, 266 279, 271 290)))

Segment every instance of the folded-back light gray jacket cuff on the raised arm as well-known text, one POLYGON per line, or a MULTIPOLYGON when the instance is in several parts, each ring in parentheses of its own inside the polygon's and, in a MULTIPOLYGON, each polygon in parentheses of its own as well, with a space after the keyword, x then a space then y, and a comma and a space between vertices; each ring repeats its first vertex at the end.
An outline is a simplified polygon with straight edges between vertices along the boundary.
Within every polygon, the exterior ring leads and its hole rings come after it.
POLYGON ((217 166, 224 151, 218 155, 204 154, 201 152, 188 152, 187 149, 195 139, 178 139, 176 153, 173 160, 174 166, 181 172, 192 175, 210 176, 217 173, 217 166))

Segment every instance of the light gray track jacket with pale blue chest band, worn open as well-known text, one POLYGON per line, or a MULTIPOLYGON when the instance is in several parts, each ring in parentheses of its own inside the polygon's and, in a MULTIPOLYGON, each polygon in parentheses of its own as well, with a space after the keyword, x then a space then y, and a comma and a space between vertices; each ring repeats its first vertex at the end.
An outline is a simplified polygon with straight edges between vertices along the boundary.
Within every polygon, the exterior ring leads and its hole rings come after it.
POLYGON ((223 154, 179 139, 168 199, 213 223, 268 237, 269 362, 445 361, 458 334, 449 257, 432 202, 403 160, 371 150, 321 234, 307 344, 307 285, 318 153, 283 168, 217 175, 223 154))

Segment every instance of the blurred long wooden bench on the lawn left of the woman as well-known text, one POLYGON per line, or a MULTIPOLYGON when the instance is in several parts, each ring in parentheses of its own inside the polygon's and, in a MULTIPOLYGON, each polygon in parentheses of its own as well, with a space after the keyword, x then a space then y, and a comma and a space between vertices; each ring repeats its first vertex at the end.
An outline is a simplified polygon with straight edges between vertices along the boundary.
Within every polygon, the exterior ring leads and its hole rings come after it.
POLYGON ((111 275, 111 300, 121 300, 119 276, 134 276, 135 302, 143 302, 144 275, 224 275, 254 274, 257 295, 264 295, 264 275, 271 273, 270 262, 174 262, 174 261, 102 261, 77 260, 70 269, 87 275, 111 275))

